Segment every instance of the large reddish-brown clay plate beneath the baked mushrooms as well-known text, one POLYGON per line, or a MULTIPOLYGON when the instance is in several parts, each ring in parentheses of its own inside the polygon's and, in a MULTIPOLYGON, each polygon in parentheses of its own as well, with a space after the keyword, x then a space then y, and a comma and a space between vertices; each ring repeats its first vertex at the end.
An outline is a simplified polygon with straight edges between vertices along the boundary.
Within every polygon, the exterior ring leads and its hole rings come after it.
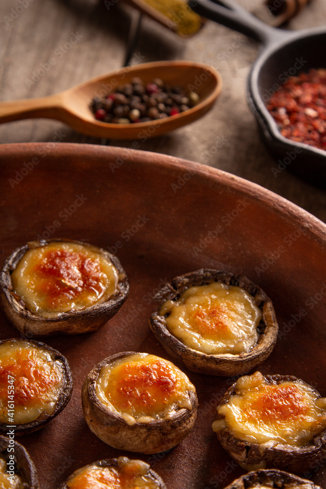
MULTIPOLYGON (((151 464, 169 489, 223 488, 244 473, 211 429, 217 404, 236 379, 188 371, 150 330, 155 293, 191 270, 224 269, 260 286, 273 301, 280 331, 259 370, 302 378, 326 396, 326 226, 318 219, 241 178, 149 152, 1 145, 0 165, 1 262, 38 235, 70 238, 115 251, 130 281, 128 300, 100 330, 46 339, 67 358, 75 387, 60 416, 23 437, 40 487, 56 489, 96 460, 135 457, 97 439, 80 401, 90 369, 125 351, 173 361, 196 386, 199 401, 194 429, 181 444, 137 458, 151 464)), ((15 335, 1 315, 0 338, 15 335)), ((308 476, 326 487, 325 465, 309 468, 308 476)))

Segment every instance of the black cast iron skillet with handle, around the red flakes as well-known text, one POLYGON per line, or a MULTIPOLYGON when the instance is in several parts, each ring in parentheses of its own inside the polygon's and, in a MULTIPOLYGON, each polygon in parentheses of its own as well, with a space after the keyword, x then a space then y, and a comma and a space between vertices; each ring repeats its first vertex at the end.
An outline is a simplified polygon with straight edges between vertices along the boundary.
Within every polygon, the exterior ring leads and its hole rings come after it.
POLYGON ((233 0, 190 1, 199 15, 245 34, 262 44, 248 79, 247 100, 278 169, 288 168, 305 180, 326 186, 326 151, 281 135, 265 103, 289 76, 310 68, 326 67, 323 51, 326 28, 299 32, 270 27, 233 0))

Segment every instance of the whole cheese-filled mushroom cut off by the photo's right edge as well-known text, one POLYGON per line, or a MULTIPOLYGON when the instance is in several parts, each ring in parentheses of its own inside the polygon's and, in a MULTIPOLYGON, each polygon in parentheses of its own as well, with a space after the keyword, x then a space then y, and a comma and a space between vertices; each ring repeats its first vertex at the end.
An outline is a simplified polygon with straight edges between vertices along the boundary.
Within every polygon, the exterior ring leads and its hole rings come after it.
POLYGON ((246 470, 303 473, 326 455, 326 398, 299 378, 256 372, 228 389, 213 430, 246 470))

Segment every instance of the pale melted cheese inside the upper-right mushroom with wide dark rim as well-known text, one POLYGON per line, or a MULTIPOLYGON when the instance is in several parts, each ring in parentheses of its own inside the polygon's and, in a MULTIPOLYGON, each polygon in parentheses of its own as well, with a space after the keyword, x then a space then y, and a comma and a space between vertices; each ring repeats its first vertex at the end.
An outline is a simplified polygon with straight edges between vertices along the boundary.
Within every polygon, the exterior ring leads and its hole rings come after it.
POLYGON ((190 348, 208 355, 237 355, 257 343, 261 311, 241 287, 220 282, 187 289, 166 301, 160 315, 170 333, 190 348))

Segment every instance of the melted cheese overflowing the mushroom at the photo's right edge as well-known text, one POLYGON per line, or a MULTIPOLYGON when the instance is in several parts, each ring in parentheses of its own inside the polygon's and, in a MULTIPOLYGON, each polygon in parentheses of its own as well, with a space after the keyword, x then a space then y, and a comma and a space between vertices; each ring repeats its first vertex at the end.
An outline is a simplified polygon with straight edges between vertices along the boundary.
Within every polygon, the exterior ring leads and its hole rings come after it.
POLYGON ((326 399, 312 387, 303 381, 269 384, 260 372, 240 377, 236 394, 217 412, 224 418, 213 423, 214 431, 227 426, 236 438, 268 446, 304 446, 326 428, 326 399))

